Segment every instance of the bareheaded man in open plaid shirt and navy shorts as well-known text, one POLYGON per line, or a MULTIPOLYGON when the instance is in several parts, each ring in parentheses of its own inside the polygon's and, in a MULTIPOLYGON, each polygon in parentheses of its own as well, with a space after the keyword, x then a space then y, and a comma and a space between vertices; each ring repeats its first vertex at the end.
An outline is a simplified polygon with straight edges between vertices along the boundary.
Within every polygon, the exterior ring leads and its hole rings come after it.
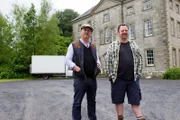
POLYGON ((135 42, 128 40, 128 29, 126 24, 118 26, 120 40, 112 42, 107 50, 105 71, 111 81, 112 103, 115 104, 118 120, 124 120, 123 103, 126 93, 137 120, 145 120, 140 107, 142 56, 135 42))

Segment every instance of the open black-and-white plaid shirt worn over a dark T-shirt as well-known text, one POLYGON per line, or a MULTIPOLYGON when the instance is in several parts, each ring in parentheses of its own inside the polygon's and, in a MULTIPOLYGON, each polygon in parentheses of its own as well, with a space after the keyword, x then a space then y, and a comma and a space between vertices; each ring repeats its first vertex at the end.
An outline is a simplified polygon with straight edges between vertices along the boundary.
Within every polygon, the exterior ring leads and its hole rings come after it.
MULTIPOLYGON (((133 41, 129 41, 129 43, 134 58, 134 78, 136 80, 137 77, 141 76, 143 61, 136 43, 133 41)), ((105 72, 109 76, 109 79, 113 82, 115 82, 117 77, 120 46, 121 43, 119 40, 113 41, 109 45, 107 53, 105 55, 105 72)))

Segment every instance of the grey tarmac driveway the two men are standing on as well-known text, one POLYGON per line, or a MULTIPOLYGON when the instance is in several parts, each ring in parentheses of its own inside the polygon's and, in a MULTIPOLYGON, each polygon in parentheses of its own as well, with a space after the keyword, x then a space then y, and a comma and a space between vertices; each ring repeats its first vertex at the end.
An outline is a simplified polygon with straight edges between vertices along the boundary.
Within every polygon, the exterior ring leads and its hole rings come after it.
MULTIPOLYGON (((142 110, 148 120, 180 120, 180 80, 141 80, 142 110)), ((73 80, 0 83, 0 120, 72 120, 73 80)), ((136 120, 125 100, 125 120, 136 120)), ((110 82, 98 78, 98 120, 117 120, 110 82)), ((87 119, 86 97, 82 120, 87 119)))

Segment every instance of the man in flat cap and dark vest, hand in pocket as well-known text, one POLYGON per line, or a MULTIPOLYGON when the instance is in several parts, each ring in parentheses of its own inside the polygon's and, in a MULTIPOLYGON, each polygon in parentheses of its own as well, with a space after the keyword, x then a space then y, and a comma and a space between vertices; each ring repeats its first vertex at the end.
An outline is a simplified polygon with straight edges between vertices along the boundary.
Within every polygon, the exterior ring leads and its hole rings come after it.
POLYGON ((72 120, 81 120, 81 103, 87 97, 89 120, 96 120, 96 76, 100 72, 100 61, 96 46, 90 42, 93 27, 81 26, 81 38, 71 43, 66 54, 66 65, 73 70, 74 101, 72 120))

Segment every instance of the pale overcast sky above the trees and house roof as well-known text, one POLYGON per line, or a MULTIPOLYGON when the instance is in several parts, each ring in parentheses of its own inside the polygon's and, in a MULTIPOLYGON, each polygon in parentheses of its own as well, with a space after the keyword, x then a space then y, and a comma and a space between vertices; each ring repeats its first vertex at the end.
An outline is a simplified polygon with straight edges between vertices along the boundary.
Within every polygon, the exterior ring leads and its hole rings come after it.
MULTIPOLYGON (((100 0, 50 0, 53 10, 64 10, 66 8, 73 9, 79 14, 83 14, 93 6, 99 3, 100 0)), ((35 5, 36 10, 39 10, 41 0, 0 0, 0 12, 4 15, 10 15, 12 4, 24 5, 26 8, 35 5)))

